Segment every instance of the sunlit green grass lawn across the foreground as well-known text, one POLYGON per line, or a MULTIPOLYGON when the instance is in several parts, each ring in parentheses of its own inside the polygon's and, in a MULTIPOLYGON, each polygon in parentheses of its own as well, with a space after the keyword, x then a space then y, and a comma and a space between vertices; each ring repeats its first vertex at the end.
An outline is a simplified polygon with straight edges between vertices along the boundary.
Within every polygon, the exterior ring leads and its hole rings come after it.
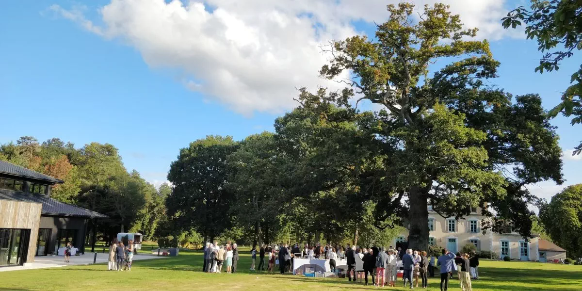
MULTIPOLYGON (((350 283, 347 279, 251 272, 250 254, 246 250, 242 253, 239 274, 206 274, 201 271, 201 251, 180 251, 178 257, 134 261, 131 272, 107 271, 105 264, 0 272, 0 290, 377 289, 350 283)), ((579 265, 481 261, 480 277, 473 282, 473 290, 582 290, 582 266, 579 265)), ((393 290, 404 290, 400 284, 402 281, 398 281, 399 287, 393 290)), ((426 290, 439 290, 439 279, 431 278, 428 286, 426 290)), ((459 281, 450 281, 449 290, 460 290, 459 281)))

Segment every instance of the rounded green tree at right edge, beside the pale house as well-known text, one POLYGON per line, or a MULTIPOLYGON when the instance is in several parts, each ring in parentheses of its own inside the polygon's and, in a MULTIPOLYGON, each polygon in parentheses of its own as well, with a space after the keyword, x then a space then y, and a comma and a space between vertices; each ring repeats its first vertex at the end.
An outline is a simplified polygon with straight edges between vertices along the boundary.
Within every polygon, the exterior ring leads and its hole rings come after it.
POLYGON ((582 184, 566 187, 540 208, 540 218, 554 243, 582 257, 582 184))

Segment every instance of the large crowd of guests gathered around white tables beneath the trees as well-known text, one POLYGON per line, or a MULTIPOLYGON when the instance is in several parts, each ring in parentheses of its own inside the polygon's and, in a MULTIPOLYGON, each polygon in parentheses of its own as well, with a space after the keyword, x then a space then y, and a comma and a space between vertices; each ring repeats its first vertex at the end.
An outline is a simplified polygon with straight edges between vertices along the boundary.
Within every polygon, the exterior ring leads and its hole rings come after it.
MULTIPOLYGON (((292 272, 292 260, 294 257, 308 259, 329 260, 329 268, 332 272, 338 272, 337 264, 339 260, 346 260, 347 270, 345 272, 348 281, 362 282, 368 285, 368 277, 371 277, 375 286, 396 286, 398 281, 398 271, 402 271, 402 283, 406 288, 407 283, 410 289, 417 288, 419 281, 422 288, 428 288, 428 277, 434 277, 434 269, 438 268, 441 273, 441 290, 448 290, 449 280, 453 278, 455 271, 460 281, 463 291, 472 291, 471 279, 478 279, 479 258, 476 253, 453 254, 446 249, 442 254, 427 257, 426 251, 402 250, 401 247, 388 249, 383 247, 356 247, 331 246, 330 244, 315 244, 310 246, 299 244, 290 246, 289 244, 273 244, 260 246, 251 249, 251 271, 274 272, 276 265, 279 272, 285 274, 292 272), (258 265, 257 265, 258 255, 258 265), (436 260, 436 264, 435 264, 436 260), (255 269, 255 266, 257 267, 255 269), (265 269, 266 267, 266 269, 265 269)), ((204 247, 204 272, 220 273, 222 265, 225 265, 226 272, 235 273, 239 251, 236 243, 226 243, 225 246, 218 246, 217 242, 206 243, 204 247)), ((339 272, 338 272, 339 273, 339 272)))

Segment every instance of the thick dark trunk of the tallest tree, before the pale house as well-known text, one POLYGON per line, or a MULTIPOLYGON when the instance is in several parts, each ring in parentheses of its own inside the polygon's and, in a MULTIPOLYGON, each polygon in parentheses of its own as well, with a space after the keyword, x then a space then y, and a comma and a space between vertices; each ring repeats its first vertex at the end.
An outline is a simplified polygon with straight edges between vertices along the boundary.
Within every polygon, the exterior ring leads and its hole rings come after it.
MULTIPOLYGON (((428 187, 430 189, 430 187, 428 187)), ((410 187, 408 197, 410 223, 408 248, 413 250, 427 250, 428 247, 428 194, 420 187, 410 187)))

